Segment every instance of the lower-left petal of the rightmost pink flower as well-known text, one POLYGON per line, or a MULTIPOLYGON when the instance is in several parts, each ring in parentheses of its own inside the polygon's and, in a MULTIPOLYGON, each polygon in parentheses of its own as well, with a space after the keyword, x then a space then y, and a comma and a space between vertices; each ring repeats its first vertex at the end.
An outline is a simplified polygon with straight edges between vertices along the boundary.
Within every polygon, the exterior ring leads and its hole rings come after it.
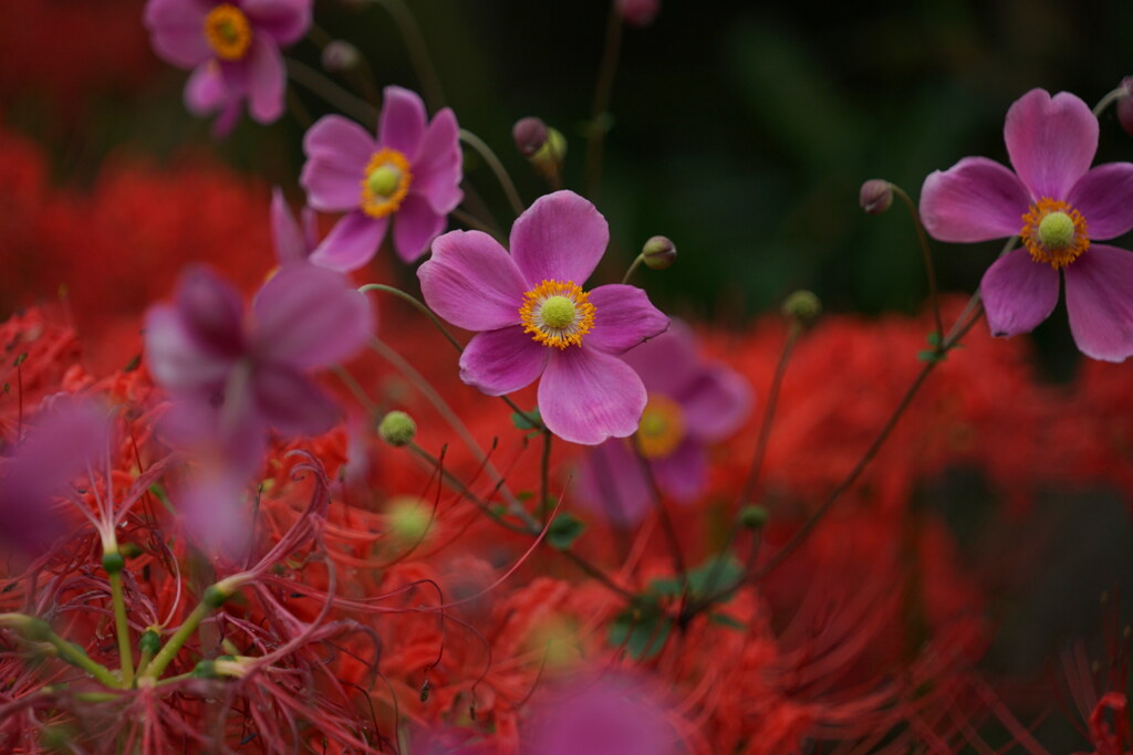
POLYGON ((1036 263, 1026 249, 1015 249, 983 274, 980 294, 993 335, 1030 333, 1058 303, 1058 273, 1036 263))

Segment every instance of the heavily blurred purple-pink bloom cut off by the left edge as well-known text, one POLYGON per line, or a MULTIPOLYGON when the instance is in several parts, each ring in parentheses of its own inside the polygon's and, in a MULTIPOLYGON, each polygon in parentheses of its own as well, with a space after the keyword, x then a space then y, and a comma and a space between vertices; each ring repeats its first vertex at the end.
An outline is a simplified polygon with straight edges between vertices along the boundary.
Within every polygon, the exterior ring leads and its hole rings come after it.
POLYGON ((16 449, 0 462, 0 547, 28 556, 63 531, 51 499, 107 453, 105 412, 88 401, 53 402, 16 449))

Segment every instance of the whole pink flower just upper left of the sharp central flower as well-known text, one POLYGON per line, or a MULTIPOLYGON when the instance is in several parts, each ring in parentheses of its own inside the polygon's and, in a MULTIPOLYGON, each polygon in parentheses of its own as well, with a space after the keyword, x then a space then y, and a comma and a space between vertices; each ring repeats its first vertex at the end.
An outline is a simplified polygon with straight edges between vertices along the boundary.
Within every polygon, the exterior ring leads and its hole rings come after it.
POLYGON ((310 261, 337 271, 368 263, 393 222, 393 248, 411 263, 444 230, 463 199, 457 117, 445 108, 427 122, 425 104, 408 89, 387 86, 374 140, 341 115, 310 127, 299 183, 320 212, 344 212, 310 261))

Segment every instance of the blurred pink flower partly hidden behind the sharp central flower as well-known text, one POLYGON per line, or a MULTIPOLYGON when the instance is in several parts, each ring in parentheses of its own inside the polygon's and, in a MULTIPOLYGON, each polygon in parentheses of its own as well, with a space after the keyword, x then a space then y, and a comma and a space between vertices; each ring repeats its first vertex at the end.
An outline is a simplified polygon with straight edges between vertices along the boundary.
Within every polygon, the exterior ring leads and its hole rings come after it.
MULTIPOLYGON (((708 482, 708 446, 734 432, 751 411, 751 387, 734 370, 702 360, 696 336, 681 323, 622 359, 641 376, 649 396, 632 443, 661 489, 690 501, 708 482)), ((651 498, 630 443, 607 440, 586 457, 579 498, 623 524, 640 521, 651 498)))

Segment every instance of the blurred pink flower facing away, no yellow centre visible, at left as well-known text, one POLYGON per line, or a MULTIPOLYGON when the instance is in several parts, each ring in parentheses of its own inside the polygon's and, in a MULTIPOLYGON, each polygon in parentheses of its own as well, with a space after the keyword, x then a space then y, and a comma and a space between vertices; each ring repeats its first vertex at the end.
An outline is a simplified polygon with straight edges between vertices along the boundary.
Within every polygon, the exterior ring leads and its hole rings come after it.
POLYGON ((173 398, 168 428, 250 473, 269 428, 312 435, 334 424, 338 406, 307 372, 352 354, 370 323, 369 302, 332 271, 288 265, 245 314, 231 285, 190 268, 173 303, 146 314, 150 370, 173 398))

